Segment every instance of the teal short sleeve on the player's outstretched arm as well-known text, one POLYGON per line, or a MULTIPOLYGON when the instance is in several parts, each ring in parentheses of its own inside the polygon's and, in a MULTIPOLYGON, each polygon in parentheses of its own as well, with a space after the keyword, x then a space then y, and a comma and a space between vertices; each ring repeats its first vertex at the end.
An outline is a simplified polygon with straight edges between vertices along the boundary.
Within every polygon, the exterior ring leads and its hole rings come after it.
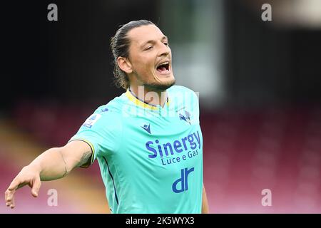
POLYGON ((86 119, 76 135, 73 135, 68 142, 73 140, 86 142, 93 152, 91 156, 92 164, 97 157, 118 150, 122 133, 120 118, 121 115, 113 113, 108 108, 98 108, 95 113, 86 119))

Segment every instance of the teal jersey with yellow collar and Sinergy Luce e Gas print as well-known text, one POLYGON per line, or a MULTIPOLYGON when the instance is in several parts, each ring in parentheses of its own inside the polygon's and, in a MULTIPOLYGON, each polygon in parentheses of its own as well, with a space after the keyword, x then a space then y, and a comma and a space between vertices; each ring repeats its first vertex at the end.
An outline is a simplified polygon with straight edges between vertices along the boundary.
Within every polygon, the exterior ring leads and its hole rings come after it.
POLYGON ((99 107, 71 138, 91 146, 91 163, 98 160, 113 213, 201 212, 198 97, 183 86, 167 94, 161 107, 127 90, 99 107))

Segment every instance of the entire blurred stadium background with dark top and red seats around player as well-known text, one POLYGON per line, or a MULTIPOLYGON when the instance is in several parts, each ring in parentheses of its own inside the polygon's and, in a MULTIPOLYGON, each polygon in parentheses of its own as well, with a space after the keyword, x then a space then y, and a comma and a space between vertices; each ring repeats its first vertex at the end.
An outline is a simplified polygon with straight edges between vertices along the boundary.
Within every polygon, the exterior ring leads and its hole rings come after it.
MULTIPOLYGON (((321 213, 321 1, 1 3, 0 192, 64 145, 113 86, 109 39, 149 19, 170 38, 178 84, 200 93, 211 213, 321 213), (47 6, 58 6, 58 21, 47 6), (262 21, 262 4, 272 21, 262 21), (263 207, 261 191, 272 191, 263 207)), ((97 162, 16 194, 0 213, 108 213, 97 162), (47 205, 48 190, 58 206, 47 205)))

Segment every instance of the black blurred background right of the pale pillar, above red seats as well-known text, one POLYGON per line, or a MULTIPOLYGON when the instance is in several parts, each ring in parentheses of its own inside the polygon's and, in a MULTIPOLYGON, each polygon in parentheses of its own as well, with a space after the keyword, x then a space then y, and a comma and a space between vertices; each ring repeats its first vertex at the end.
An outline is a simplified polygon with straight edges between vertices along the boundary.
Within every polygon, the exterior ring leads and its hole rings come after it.
POLYGON ((240 1, 225 4, 231 102, 320 104, 320 29, 277 27, 258 20, 262 11, 251 11, 240 1))

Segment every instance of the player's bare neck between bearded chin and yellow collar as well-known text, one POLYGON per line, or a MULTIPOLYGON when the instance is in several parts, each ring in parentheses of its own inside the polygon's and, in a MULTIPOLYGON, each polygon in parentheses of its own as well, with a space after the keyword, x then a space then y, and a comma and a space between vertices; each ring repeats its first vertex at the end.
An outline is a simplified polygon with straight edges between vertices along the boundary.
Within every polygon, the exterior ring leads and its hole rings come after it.
POLYGON ((129 89, 136 98, 149 105, 161 105, 163 107, 168 98, 166 90, 149 90, 146 86, 130 86, 129 89))

